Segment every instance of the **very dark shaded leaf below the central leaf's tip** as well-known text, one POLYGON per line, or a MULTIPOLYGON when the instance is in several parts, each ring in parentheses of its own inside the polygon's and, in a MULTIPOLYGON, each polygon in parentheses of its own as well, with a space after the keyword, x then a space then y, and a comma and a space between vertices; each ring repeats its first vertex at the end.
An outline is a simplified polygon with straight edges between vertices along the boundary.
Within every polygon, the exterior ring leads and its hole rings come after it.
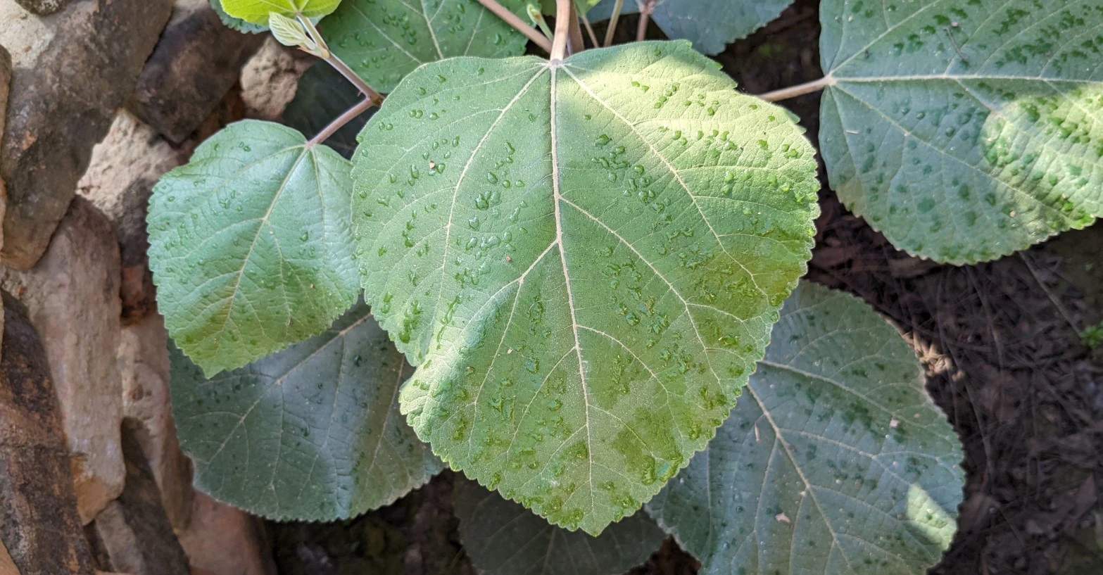
POLYGON ((463 549, 480 575, 621 575, 666 535, 640 511, 593 537, 557 528, 474 481, 453 490, 463 549))

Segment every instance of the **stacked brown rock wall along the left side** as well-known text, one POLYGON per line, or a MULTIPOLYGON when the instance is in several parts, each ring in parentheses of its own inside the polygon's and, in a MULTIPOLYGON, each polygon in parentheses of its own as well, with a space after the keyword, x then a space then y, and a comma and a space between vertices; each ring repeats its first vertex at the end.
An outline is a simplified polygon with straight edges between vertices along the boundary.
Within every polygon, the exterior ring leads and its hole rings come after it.
POLYGON ((254 56, 265 36, 207 0, 0 0, 0 558, 272 575, 263 523, 192 488, 144 220, 164 172, 278 117, 309 62, 254 56))

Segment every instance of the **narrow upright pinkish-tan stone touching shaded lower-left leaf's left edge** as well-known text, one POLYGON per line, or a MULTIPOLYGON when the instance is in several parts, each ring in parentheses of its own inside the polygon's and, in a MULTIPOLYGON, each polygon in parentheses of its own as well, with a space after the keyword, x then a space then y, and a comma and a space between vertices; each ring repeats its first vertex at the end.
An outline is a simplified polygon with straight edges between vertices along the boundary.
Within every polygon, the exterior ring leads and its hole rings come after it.
POLYGON ((169 522, 173 529, 184 530, 194 490, 191 460, 180 450, 172 420, 168 339, 159 313, 122 328, 118 356, 122 414, 149 462, 169 522))

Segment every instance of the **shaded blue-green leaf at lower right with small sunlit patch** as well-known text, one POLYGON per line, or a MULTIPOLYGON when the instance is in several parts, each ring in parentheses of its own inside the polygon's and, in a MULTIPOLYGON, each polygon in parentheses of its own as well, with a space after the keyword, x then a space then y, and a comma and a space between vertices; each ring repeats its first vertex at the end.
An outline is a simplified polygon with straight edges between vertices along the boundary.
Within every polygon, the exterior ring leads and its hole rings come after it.
POLYGON ((921 575, 956 529, 962 457, 896 329, 803 284, 731 417, 647 510, 702 573, 921 575))

